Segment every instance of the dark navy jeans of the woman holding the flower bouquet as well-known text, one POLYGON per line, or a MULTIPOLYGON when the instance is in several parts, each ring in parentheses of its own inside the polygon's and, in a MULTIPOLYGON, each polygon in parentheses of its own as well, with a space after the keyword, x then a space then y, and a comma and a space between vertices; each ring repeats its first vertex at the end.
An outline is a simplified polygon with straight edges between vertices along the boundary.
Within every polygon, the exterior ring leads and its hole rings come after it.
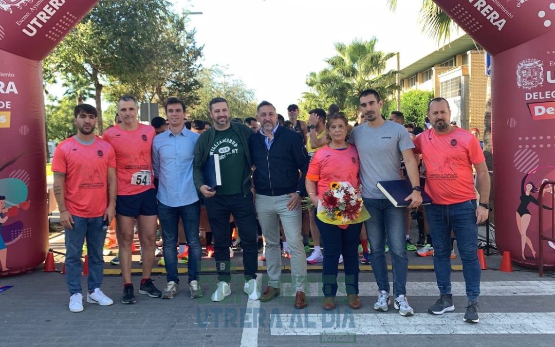
POLYGON ((347 294, 359 294, 359 235, 362 223, 350 224, 347 229, 322 222, 314 217, 320 230, 324 262, 322 263, 322 291, 324 296, 337 293, 337 261, 343 255, 345 267, 345 289, 347 294))

